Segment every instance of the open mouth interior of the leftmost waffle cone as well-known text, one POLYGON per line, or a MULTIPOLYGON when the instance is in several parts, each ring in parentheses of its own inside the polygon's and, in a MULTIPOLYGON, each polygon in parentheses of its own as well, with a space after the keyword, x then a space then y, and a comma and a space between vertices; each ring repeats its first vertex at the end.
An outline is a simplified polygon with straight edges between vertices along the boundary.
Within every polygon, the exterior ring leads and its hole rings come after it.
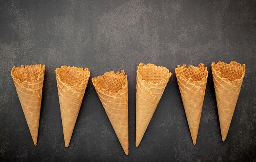
POLYGON ((13 67, 11 74, 13 78, 20 80, 20 82, 31 82, 32 80, 38 79, 38 76, 45 69, 45 65, 26 65, 25 67, 21 65, 20 67, 13 67))

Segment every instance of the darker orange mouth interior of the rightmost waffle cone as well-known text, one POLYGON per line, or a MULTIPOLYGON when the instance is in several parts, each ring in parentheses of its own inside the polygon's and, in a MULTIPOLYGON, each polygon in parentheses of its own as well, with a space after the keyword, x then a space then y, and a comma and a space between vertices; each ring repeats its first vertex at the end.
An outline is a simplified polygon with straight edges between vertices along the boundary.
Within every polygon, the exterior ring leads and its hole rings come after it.
POLYGON ((245 72, 245 64, 231 61, 229 64, 224 62, 213 63, 212 68, 219 72, 220 77, 228 79, 230 82, 241 79, 245 72))

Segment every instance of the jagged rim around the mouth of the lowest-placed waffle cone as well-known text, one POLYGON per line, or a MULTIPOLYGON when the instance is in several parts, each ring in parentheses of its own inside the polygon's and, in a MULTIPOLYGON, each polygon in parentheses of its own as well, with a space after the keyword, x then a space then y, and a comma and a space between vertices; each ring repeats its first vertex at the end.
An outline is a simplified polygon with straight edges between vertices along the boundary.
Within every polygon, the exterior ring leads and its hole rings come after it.
POLYGON ((100 92, 108 92, 108 93, 113 93, 113 94, 119 94, 122 90, 124 90, 124 88, 128 85, 128 80, 127 80, 127 75, 125 74, 124 70, 121 70, 121 72, 117 71, 116 73, 114 71, 109 71, 109 72, 105 72, 103 75, 99 75, 97 77, 94 77, 92 78, 92 84, 94 85, 94 87, 99 90, 100 92), (99 88, 97 86, 97 79, 103 75, 106 75, 108 73, 114 73, 114 74, 123 74, 124 77, 125 77, 125 84, 122 85, 121 89, 118 90, 118 92, 112 92, 112 91, 109 91, 109 90, 106 90, 105 88, 99 88))

